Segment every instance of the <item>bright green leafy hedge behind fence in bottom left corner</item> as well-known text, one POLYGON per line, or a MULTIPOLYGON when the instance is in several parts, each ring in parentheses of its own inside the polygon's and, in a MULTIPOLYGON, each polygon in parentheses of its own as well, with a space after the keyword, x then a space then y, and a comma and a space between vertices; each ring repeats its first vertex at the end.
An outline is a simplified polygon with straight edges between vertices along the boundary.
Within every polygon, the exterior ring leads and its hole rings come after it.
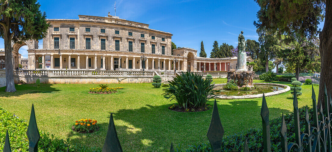
MULTIPOLYGON (((29 140, 27 137, 28 123, 20 118, 13 117, 2 107, 0 107, 0 151, 3 150, 8 129, 9 142, 12 151, 29 151, 29 140)), ((40 132, 40 140, 38 142, 39 151, 66 151, 69 148, 73 151, 101 152, 100 148, 94 146, 85 147, 82 145, 71 145, 71 140, 54 137, 53 134, 40 132)))

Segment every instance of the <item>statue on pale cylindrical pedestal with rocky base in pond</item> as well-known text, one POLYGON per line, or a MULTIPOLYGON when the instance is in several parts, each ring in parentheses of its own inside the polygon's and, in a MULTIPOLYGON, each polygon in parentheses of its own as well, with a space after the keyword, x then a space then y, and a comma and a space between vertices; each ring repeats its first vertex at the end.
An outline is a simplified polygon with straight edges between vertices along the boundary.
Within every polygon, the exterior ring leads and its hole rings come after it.
POLYGON ((237 55, 237 69, 235 72, 229 71, 227 72, 227 82, 231 79, 234 81, 237 80, 237 85, 239 87, 248 86, 254 87, 252 84, 255 72, 247 70, 247 54, 244 51, 246 48, 246 41, 244 40, 244 36, 242 35, 243 31, 238 38, 238 55, 237 55))

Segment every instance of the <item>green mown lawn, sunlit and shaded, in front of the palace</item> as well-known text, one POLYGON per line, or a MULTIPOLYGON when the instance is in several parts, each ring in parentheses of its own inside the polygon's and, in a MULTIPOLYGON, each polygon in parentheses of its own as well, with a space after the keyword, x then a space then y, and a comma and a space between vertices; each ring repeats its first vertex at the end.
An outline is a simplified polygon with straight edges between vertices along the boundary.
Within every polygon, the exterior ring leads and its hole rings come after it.
MULTIPOLYGON (((223 83, 225 78, 213 79, 223 83)), ((261 82, 261 80, 254 80, 261 82)), ((276 82, 289 84, 289 82, 276 82)), ((98 84, 41 84, 36 93, 35 84, 16 85, 14 93, 0 88, 0 106, 29 120, 34 103, 37 124, 40 130, 61 138, 71 138, 74 143, 102 147, 105 140, 110 113, 122 148, 127 152, 169 151, 171 142, 186 147, 197 142, 206 142, 207 129, 212 110, 204 112, 175 112, 168 109, 175 101, 166 100, 162 88, 152 88, 151 83, 110 84, 124 87, 114 94, 89 94, 90 87, 98 84), (75 120, 91 118, 98 120, 101 128, 91 134, 71 131, 75 120)), ((314 86, 318 94, 318 86, 314 86)), ((311 105, 311 85, 302 86, 299 107, 311 105)), ((267 97, 270 118, 292 112, 290 92, 267 97)), ((262 98, 218 100, 218 110, 225 135, 234 134, 251 127, 261 128, 262 98)), ((213 101, 208 104, 212 105, 213 101)))

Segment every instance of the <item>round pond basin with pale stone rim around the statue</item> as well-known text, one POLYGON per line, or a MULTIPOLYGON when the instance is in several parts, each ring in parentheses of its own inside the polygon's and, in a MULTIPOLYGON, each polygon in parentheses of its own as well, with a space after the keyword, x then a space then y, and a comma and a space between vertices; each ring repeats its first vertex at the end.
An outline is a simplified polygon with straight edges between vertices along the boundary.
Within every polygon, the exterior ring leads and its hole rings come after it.
MULTIPOLYGON (((222 87, 226 83, 222 84, 214 84, 215 86, 222 87)), ((253 83, 257 85, 257 88, 262 88, 263 90, 253 90, 253 91, 239 91, 239 90, 223 90, 224 95, 218 95, 218 98, 221 99, 246 99, 246 98, 259 98, 263 97, 263 92, 265 92, 265 96, 273 96, 277 94, 281 94, 290 90, 290 86, 285 84, 277 84, 277 83, 253 83), (267 91, 267 89, 271 89, 267 91), (241 92, 243 95, 227 95, 227 94, 236 94, 235 92, 241 92), (248 95, 246 95, 248 94, 248 95)), ((218 88, 220 89, 220 88, 218 88)))

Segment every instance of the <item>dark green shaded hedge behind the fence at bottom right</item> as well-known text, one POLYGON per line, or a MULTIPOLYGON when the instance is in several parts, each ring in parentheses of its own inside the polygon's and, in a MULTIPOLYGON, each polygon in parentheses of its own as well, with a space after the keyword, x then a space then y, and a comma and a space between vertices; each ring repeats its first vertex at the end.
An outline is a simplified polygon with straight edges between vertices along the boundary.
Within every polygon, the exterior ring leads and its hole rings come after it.
MULTIPOLYGON (((305 106, 298 108, 300 115, 301 130, 305 130, 305 106)), ((309 118, 313 118, 312 107, 308 108, 309 118)), ((285 115, 285 122, 287 126, 287 141, 288 143, 295 142, 294 129, 294 114, 285 115)), ((313 119, 310 119, 310 126, 313 126, 313 119)), ((270 135, 271 135, 271 151, 281 151, 279 133, 281 127, 281 117, 270 120, 270 135)), ((245 139, 248 139, 249 151, 263 151, 263 132, 262 129, 248 129, 227 137, 221 141, 221 151, 243 151, 245 139)), ((307 151, 306 146, 303 151, 307 151)), ((211 152, 211 146, 208 142, 197 143, 189 145, 188 149, 183 149, 180 146, 174 148, 176 152, 211 152)))

